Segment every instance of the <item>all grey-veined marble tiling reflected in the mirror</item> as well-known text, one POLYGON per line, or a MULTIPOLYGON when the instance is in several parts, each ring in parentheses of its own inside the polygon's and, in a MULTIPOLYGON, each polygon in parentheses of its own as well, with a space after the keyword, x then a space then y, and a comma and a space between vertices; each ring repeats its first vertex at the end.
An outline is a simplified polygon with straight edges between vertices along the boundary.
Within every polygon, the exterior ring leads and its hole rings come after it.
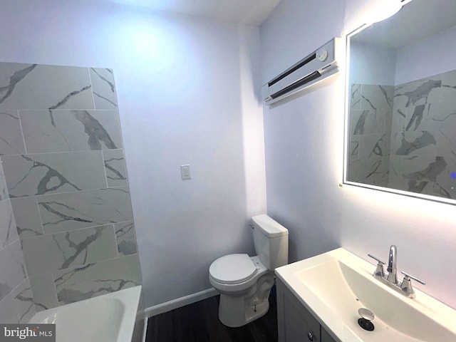
POLYGON ((351 85, 347 180, 456 199, 456 71, 351 85))

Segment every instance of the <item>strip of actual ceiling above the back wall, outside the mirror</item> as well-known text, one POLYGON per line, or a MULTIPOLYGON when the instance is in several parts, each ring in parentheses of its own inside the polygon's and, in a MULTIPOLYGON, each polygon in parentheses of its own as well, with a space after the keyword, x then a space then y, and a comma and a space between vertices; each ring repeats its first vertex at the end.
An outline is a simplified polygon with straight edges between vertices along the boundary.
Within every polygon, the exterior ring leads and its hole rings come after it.
POLYGON ((98 0, 260 26, 280 0, 98 0))

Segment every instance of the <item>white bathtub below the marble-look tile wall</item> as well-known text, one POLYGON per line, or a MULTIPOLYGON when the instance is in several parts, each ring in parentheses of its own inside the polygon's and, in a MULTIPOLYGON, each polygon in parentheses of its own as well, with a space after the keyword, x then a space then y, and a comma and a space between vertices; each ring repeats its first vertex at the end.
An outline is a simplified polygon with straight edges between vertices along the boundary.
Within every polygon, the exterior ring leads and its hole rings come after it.
POLYGON ((29 323, 56 324, 56 342, 130 342, 141 286, 38 312, 29 323))

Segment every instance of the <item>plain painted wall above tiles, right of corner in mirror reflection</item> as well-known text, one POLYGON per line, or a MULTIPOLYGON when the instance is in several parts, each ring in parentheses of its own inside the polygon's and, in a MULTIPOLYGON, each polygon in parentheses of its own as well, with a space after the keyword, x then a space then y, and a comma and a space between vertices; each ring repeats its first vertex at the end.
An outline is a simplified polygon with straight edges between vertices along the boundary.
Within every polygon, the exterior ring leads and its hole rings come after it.
POLYGON ((456 69, 456 26, 398 49, 395 84, 456 69))

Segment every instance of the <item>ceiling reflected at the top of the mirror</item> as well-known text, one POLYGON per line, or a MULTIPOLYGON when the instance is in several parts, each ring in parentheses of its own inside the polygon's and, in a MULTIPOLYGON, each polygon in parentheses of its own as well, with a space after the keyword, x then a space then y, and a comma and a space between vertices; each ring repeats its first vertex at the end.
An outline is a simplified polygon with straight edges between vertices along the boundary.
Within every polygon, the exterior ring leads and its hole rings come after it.
POLYGON ((413 0, 398 14, 356 34, 354 40, 397 49, 455 25, 455 0, 413 0))

